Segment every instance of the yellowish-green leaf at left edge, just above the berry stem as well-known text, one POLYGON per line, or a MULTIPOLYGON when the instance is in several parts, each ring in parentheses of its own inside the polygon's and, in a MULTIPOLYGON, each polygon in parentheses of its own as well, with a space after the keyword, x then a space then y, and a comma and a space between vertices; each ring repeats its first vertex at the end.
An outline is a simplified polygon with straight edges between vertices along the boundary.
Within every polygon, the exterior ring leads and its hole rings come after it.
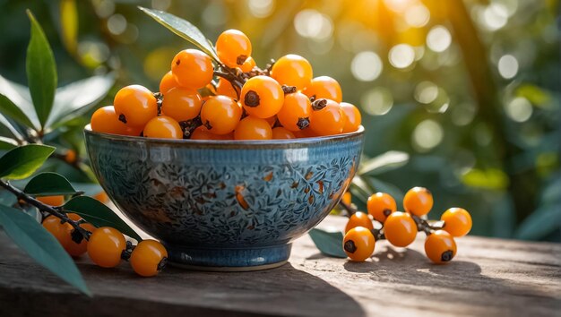
POLYGON ((28 144, 10 150, 0 158, 0 178, 22 179, 35 172, 55 148, 47 145, 28 144))

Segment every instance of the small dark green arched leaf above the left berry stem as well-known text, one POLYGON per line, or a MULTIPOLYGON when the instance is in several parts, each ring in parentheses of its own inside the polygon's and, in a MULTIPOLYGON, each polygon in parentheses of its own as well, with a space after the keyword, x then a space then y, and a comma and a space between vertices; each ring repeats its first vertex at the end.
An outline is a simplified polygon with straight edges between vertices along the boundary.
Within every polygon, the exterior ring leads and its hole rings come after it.
POLYGON ((23 189, 34 196, 73 195, 76 190, 65 176, 56 173, 41 173, 31 178, 23 189))

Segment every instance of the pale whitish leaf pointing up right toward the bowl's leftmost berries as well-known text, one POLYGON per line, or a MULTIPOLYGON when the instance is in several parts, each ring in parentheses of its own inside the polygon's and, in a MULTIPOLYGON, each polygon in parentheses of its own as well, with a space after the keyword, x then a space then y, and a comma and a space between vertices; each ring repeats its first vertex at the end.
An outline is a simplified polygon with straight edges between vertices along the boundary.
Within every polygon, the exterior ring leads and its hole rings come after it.
POLYGON ((55 105, 48 117, 48 128, 56 129, 88 111, 103 99, 115 82, 115 76, 93 76, 56 90, 55 105))

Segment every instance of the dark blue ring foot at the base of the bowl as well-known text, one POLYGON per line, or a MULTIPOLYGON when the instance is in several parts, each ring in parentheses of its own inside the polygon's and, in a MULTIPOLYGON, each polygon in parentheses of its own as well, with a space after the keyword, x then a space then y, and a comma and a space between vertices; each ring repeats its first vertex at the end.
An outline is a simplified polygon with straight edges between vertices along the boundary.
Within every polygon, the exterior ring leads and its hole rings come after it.
POLYGON ((289 260, 291 244, 245 248, 194 248, 166 244, 171 265, 189 270, 248 271, 277 268, 289 260))

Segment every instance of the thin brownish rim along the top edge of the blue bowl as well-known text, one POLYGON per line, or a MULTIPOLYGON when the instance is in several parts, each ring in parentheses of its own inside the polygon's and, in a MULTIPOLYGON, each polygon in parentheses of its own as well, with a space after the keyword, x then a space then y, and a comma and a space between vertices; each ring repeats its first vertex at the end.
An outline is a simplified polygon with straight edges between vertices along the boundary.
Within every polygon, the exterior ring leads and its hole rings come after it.
POLYGON ((341 133, 335 135, 327 136, 315 136, 310 138, 296 138, 296 139, 283 139, 283 140, 191 140, 191 139, 163 139, 163 138, 144 138, 142 136, 132 136, 132 135, 120 135, 111 133, 99 133, 91 130, 91 124, 87 124, 84 127, 84 133, 96 136, 102 139, 112 140, 112 141, 134 141, 134 142, 144 142, 144 143, 167 143, 173 145, 184 144, 186 146, 213 146, 219 145, 220 147, 286 147, 290 145, 307 145, 323 143, 327 141, 345 141, 353 138, 360 137, 364 135, 365 128, 363 125, 358 127, 358 130, 352 133, 341 133))

